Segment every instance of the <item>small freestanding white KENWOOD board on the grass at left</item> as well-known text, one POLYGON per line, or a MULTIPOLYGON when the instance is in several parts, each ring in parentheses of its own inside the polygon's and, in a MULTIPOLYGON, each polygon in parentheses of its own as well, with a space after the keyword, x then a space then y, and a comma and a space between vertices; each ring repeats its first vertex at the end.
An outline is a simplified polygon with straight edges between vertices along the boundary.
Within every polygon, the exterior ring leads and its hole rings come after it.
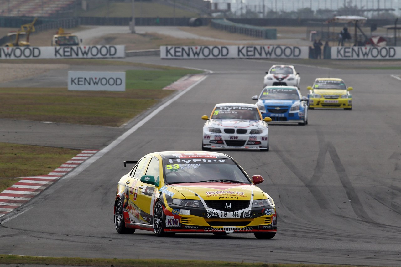
POLYGON ((69 71, 69 91, 125 91, 125 72, 69 71))

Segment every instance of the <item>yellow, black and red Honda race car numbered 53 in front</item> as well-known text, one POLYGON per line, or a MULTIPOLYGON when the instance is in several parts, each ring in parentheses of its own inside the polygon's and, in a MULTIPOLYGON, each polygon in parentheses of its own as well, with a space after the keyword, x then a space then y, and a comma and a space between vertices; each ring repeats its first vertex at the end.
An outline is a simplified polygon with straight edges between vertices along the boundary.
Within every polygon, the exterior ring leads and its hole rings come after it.
POLYGON ((136 165, 117 184, 118 233, 253 233, 271 239, 277 232, 274 201, 255 185, 263 177, 249 178, 226 154, 156 152, 126 164, 136 165))

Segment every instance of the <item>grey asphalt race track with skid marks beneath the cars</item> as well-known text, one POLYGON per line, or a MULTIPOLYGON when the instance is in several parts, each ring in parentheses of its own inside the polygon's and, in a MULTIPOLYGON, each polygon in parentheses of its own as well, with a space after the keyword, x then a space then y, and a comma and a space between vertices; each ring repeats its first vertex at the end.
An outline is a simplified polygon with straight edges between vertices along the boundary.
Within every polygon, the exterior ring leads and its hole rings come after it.
POLYGON ((391 77, 399 71, 286 61, 300 73, 302 95, 318 77, 342 78, 353 87, 353 108, 310 110, 305 126, 270 124, 269 152, 226 151, 250 176, 263 176, 259 186, 275 200, 277 235, 168 238, 115 231, 115 188, 128 172, 123 161, 156 151, 201 150, 201 116, 216 103, 254 103, 265 71, 280 61, 124 60, 210 72, 18 212, 0 218, 0 254, 401 265, 401 81, 391 77))

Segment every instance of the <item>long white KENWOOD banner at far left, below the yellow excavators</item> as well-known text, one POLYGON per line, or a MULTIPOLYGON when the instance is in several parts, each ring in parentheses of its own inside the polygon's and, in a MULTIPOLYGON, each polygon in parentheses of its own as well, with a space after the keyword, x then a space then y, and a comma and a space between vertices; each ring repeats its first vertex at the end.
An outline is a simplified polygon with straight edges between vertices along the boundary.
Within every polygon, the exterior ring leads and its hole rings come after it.
POLYGON ((0 59, 96 59, 125 57, 124 45, 0 47, 0 59))

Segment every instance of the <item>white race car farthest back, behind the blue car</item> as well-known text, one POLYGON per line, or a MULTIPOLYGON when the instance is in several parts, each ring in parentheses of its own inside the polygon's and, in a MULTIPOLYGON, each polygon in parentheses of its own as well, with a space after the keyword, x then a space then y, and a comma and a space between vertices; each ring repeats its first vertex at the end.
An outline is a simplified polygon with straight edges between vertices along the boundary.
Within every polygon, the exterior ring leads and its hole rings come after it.
POLYGON ((300 88, 300 74, 292 65, 273 65, 266 72, 263 87, 274 85, 288 85, 300 88))

